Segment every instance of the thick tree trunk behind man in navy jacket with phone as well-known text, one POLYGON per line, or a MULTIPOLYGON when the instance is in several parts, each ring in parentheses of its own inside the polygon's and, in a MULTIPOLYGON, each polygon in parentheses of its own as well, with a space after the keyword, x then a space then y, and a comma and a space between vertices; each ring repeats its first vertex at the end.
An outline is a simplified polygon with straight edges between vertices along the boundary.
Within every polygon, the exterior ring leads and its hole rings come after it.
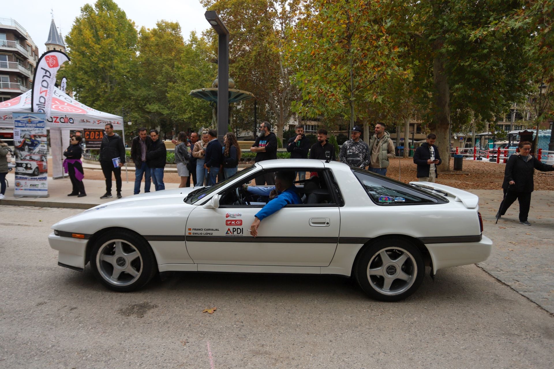
POLYGON ((439 172, 450 169, 450 90, 447 75, 444 71, 444 63, 440 55, 433 60, 433 87, 435 114, 433 126, 437 135, 437 147, 439 148, 442 164, 437 167, 439 172))

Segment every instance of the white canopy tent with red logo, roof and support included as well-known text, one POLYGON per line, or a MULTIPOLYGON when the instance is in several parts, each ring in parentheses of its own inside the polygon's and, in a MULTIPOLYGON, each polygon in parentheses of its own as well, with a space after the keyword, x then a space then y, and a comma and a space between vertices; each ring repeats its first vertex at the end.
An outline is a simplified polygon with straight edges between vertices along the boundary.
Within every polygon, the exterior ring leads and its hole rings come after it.
MULTIPOLYGON (((0 127, 13 127, 12 113, 31 112, 31 93, 29 90, 11 100, 0 102, 0 127)), ((70 129, 104 129, 111 123, 116 130, 123 130, 125 141, 125 126, 123 118, 101 112, 86 106, 73 97, 54 87, 52 94, 52 110, 47 119, 47 129, 50 130, 50 151, 52 153, 52 177, 63 178, 63 150, 69 146, 70 129)))

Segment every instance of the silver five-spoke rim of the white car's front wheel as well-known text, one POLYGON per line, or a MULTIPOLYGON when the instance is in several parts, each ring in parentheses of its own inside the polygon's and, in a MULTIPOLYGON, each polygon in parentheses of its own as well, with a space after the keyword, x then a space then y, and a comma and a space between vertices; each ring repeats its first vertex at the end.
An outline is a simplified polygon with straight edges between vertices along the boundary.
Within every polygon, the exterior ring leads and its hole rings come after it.
POLYGON ((102 278, 112 285, 124 287, 136 282, 142 274, 142 256, 125 240, 110 240, 96 253, 96 267, 102 278))

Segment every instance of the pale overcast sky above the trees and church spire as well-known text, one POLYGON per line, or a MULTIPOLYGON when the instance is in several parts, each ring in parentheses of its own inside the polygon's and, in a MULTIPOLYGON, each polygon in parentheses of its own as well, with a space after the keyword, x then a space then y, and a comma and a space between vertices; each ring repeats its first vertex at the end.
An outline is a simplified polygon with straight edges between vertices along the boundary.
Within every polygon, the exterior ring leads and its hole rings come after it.
MULTIPOLYGON (((201 33, 209 24, 204 18, 205 9, 198 0, 115 0, 121 9, 127 14, 127 18, 133 20, 139 30, 142 26, 153 28, 161 19, 179 22, 184 39, 192 30, 201 33)), ((27 30, 34 43, 37 44, 39 54, 46 51, 44 46, 48 39, 52 11, 54 9, 54 22, 61 35, 69 33, 75 17, 81 14, 81 7, 86 4, 94 4, 95 1, 85 0, 28 0, 28 1, 3 1, 0 17, 13 18, 27 30)))

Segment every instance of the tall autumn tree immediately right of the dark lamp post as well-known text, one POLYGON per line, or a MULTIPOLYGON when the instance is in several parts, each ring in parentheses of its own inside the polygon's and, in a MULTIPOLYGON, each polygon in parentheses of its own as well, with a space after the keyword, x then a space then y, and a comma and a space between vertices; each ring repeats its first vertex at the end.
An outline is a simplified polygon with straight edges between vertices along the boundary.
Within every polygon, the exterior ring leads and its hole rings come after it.
MULTIPOLYGON (((274 115, 277 136, 291 117, 291 102, 297 97, 290 77, 294 65, 284 63, 289 42, 288 30, 294 27, 300 0, 200 0, 216 11, 229 29, 229 75, 240 90, 250 91, 265 114, 265 105, 274 115)), ((217 35, 207 32, 216 54, 217 35)), ((245 102, 250 106, 250 102, 245 102)), ((273 119, 269 119, 273 120, 273 119)))

